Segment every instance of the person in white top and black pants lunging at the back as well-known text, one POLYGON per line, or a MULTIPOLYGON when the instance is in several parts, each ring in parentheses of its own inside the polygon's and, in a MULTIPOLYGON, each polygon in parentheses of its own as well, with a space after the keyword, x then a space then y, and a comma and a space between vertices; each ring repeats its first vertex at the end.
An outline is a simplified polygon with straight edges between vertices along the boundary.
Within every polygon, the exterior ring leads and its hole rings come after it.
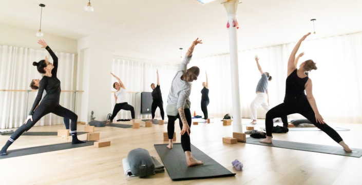
POLYGON ((113 108, 112 116, 110 116, 110 118, 107 120, 106 123, 110 124, 113 121, 113 118, 115 118, 118 112, 120 112, 120 110, 131 111, 132 121, 135 122, 135 108, 132 107, 131 105, 128 105, 127 103, 127 92, 126 88, 124 87, 124 84, 122 83, 119 77, 117 77, 112 73, 110 74, 118 80, 118 83, 117 82, 113 83, 113 88, 117 90, 115 92, 116 105, 115 108, 113 108))

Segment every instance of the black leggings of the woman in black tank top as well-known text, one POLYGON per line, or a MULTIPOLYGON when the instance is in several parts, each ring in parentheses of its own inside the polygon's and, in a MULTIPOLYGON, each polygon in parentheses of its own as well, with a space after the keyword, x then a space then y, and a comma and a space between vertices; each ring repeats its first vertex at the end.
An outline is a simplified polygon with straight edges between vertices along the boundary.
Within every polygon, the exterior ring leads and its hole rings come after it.
POLYGON ((315 120, 314 111, 309 104, 308 99, 303 97, 285 97, 284 102, 266 113, 265 119, 265 127, 266 127, 266 135, 272 136, 273 131, 273 119, 276 117, 285 117, 289 114, 299 113, 302 116, 306 117, 308 120, 312 122, 318 129, 325 132, 329 135, 334 141, 339 143, 343 139, 339 136, 339 134, 332 129, 327 124, 320 124, 315 120))

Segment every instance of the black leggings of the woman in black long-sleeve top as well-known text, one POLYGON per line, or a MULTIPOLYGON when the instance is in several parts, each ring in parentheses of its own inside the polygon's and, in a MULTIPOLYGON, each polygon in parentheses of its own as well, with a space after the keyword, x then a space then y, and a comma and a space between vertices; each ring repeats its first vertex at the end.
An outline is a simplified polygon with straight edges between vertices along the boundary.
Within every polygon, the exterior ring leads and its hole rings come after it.
POLYGON ((25 131, 28 131, 32 128, 37 121, 39 121, 43 116, 53 113, 55 115, 67 118, 71 120, 71 131, 77 131, 77 120, 78 116, 74 112, 62 107, 58 102, 42 102, 33 113, 33 120, 29 119, 28 122, 18 129, 10 136, 12 140, 19 138, 25 131), (54 105, 55 104, 55 105, 54 105))

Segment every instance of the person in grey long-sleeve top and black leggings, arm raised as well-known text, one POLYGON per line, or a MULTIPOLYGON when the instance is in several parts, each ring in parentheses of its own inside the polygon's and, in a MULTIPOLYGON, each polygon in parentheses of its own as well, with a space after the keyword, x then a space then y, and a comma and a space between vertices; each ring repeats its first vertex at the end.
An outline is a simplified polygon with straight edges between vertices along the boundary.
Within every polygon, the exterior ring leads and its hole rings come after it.
POLYGON ((176 119, 179 119, 181 128, 181 146, 186 155, 187 166, 203 165, 202 161, 195 159, 191 153, 190 133, 192 116, 190 112, 190 93, 191 86, 194 80, 200 74, 200 69, 196 66, 187 69, 187 64, 192 58, 194 48, 196 45, 202 44, 201 40, 197 38, 193 44, 188 48, 187 53, 179 66, 175 77, 172 80, 171 88, 167 97, 166 113, 168 117, 167 132, 168 132, 168 146, 173 148, 173 138, 175 125, 173 124, 176 119))

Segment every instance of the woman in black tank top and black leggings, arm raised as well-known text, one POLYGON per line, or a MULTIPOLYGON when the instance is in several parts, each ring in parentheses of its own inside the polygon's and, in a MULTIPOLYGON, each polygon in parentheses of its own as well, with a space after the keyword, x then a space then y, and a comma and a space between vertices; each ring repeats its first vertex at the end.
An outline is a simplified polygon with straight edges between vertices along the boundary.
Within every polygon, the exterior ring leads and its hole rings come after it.
POLYGON ((310 34, 311 33, 304 35, 299 40, 289 57, 284 102, 266 113, 266 138, 259 142, 272 143, 273 118, 299 113, 310 120, 317 128, 329 135, 342 146, 346 152, 352 152, 340 135, 326 124, 318 111, 312 93, 312 79, 305 74, 307 71, 317 70, 316 63, 309 59, 303 61, 299 65, 299 69, 296 68, 295 55, 298 52, 301 42, 310 34), (307 95, 304 94, 304 89, 307 95))

